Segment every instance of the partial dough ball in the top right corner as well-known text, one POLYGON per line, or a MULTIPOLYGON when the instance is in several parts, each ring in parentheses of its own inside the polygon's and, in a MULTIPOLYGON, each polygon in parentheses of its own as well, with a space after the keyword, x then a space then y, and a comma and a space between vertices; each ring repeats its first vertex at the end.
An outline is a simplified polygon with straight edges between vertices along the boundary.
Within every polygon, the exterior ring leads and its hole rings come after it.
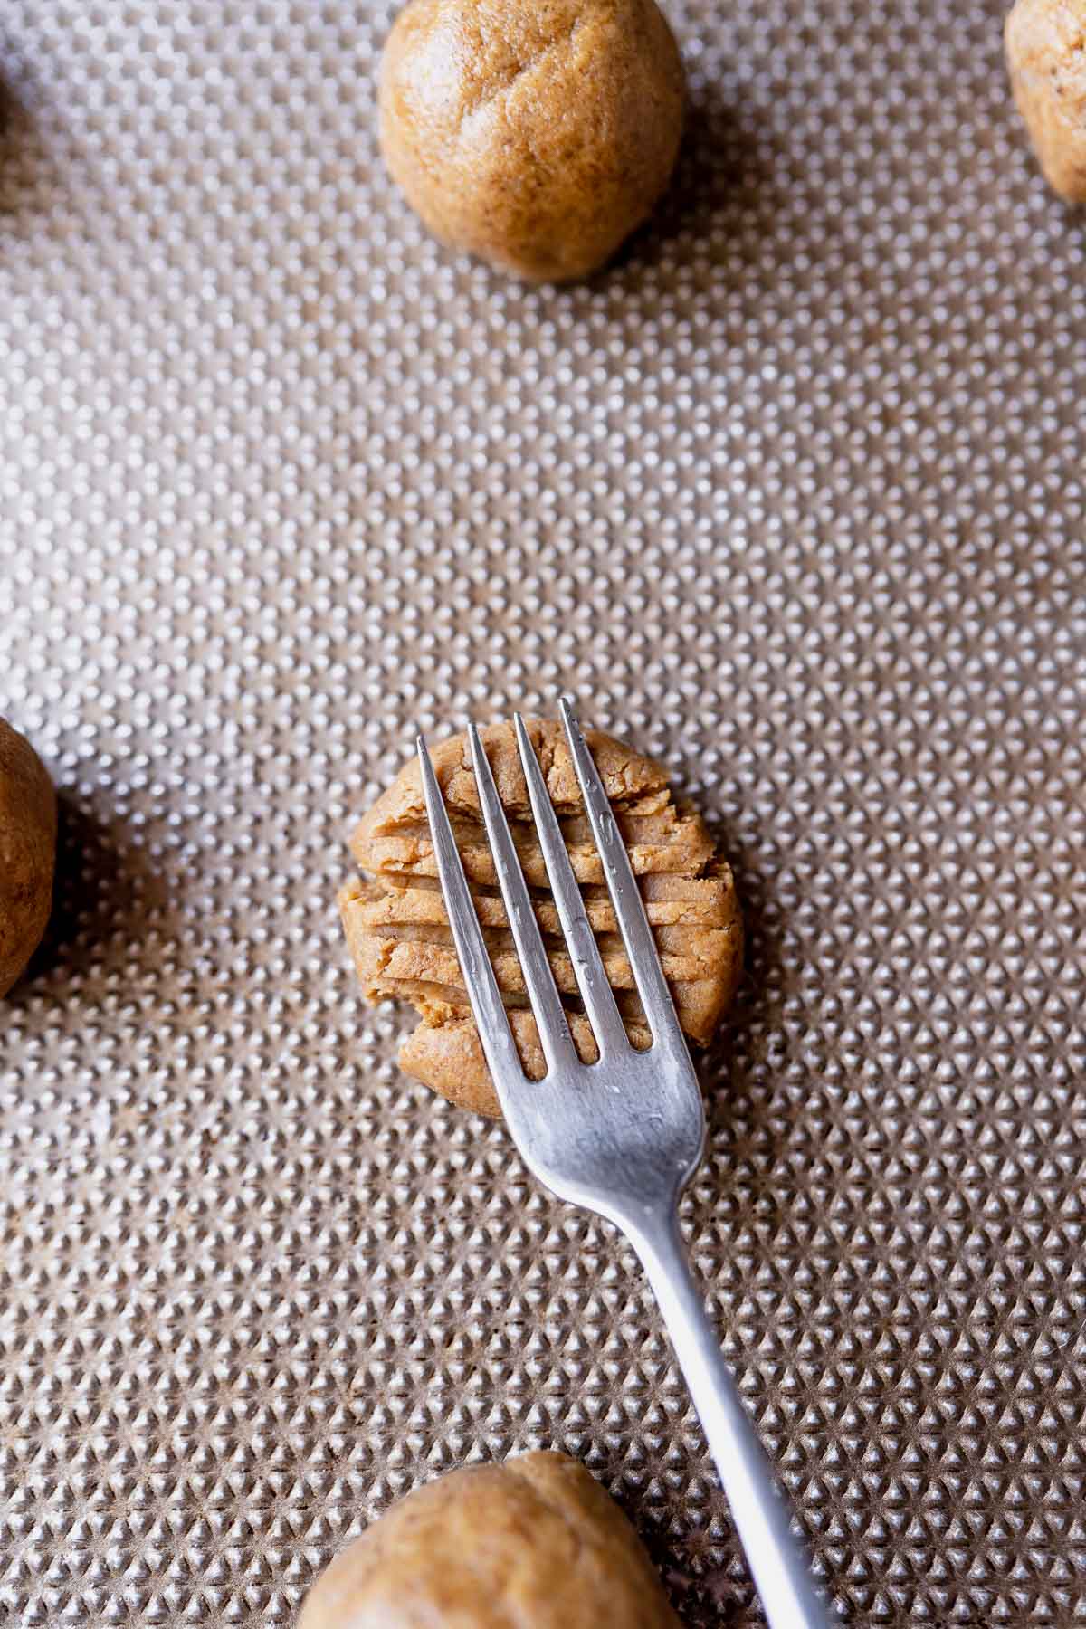
POLYGON ((1049 182, 1070 204, 1086 202, 1086 0, 1018 0, 1006 62, 1049 182))

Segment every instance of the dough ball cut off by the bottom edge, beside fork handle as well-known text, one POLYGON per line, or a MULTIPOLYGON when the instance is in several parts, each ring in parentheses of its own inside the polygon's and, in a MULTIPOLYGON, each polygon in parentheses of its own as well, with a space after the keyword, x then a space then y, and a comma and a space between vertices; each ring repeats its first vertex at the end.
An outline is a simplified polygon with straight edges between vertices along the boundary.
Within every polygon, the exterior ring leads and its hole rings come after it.
POLYGON ((420 1487, 335 1557, 298 1629, 679 1629, 642 1541, 563 1453, 420 1487))

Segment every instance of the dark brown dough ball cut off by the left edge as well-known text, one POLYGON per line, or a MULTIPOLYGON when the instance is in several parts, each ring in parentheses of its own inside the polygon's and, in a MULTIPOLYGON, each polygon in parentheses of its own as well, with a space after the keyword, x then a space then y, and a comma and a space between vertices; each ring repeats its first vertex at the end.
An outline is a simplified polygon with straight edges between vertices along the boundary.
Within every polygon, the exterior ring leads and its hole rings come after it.
POLYGON ((46 932, 55 860, 52 782, 29 741, 0 718, 0 995, 46 932))

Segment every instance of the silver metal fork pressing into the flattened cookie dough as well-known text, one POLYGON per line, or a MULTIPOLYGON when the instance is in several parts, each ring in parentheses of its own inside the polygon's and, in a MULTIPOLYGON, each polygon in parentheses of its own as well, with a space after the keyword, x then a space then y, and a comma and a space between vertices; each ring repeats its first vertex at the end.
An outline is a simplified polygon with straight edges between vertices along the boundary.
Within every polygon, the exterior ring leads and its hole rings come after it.
POLYGON ((602 862, 619 929, 651 1031, 635 1051, 604 973, 581 891, 565 850, 524 720, 515 715, 528 795, 558 920, 585 1012, 599 1046, 581 1064, 550 971, 524 873, 479 731, 469 728, 484 824, 513 930, 547 1072, 529 1080, 484 943, 430 754, 418 736, 422 784, 444 906, 484 1056, 506 1126, 529 1170, 560 1199, 620 1228, 642 1259, 694 1406, 716 1461, 747 1564, 772 1629, 837 1622, 814 1590, 790 1512, 739 1399, 694 1282, 679 1232, 679 1194, 702 1158, 705 1111, 676 1018, 625 844, 591 751, 562 702, 573 767, 602 862))

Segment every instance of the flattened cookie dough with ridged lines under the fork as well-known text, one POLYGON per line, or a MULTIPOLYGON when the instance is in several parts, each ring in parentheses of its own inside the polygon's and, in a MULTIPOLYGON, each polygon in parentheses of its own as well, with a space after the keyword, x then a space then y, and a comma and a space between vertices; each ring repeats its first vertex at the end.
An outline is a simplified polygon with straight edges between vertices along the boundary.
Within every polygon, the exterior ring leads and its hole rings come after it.
MULTIPOLYGON (((557 722, 537 718, 528 722, 528 731, 562 818, 573 870, 583 885, 619 1008, 633 1044, 646 1046, 648 1030, 583 813, 565 735, 557 722)), ((524 875, 539 893, 537 915, 547 937, 558 990, 575 1002, 576 979, 560 938, 547 873, 531 826, 528 787, 513 725, 492 725, 482 731, 482 738, 501 801, 513 821, 524 875)), ((716 855, 697 810, 672 800, 659 764, 596 730, 588 731, 588 743, 619 818, 633 870, 642 880, 642 894, 679 1021, 692 1041, 703 1044, 712 1039, 734 994, 742 961, 742 922, 731 870, 716 855)), ((521 1059, 529 1075, 541 1077, 542 1049, 497 891, 467 738, 458 735, 441 741, 433 749, 433 766, 475 891, 475 906, 487 930, 498 984, 506 995, 521 1059)), ((368 876, 347 883, 339 906, 366 1000, 409 1000, 420 1016, 418 1028, 401 1046, 401 1069, 462 1108, 498 1116, 498 1100, 479 1044, 436 881, 415 759, 378 798, 355 831, 350 847, 368 876)), ((598 1056, 596 1043, 583 1013, 570 1010, 570 1030, 581 1057, 593 1060, 598 1056)))

